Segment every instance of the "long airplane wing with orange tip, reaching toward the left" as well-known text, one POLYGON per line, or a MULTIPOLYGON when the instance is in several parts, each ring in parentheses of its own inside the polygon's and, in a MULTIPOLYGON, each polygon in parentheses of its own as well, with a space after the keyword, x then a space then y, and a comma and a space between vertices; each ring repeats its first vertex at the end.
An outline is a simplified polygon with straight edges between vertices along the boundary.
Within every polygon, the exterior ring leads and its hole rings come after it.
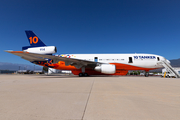
POLYGON ((93 62, 93 61, 52 56, 52 55, 36 54, 36 53, 29 53, 29 52, 23 52, 23 51, 5 51, 5 52, 20 56, 21 58, 28 60, 30 62, 47 61, 47 59, 52 59, 53 63, 58 63, 59 61, 64 61, 66 66, 72 65, 72 66, 75 66, 77 69, 79 69, 83 66, 94 68, 97 64, 100 64, 98 62, 93 62))

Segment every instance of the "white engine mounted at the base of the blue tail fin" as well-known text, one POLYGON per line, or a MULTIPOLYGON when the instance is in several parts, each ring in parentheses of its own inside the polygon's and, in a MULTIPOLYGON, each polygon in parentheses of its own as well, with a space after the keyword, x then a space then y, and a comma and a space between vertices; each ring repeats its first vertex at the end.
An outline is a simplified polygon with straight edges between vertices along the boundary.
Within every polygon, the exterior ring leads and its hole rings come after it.
POLYGON ((23 51, 37 54, 54 54, 57 52, 57 48, 55 46, 29 47, 23 51))

